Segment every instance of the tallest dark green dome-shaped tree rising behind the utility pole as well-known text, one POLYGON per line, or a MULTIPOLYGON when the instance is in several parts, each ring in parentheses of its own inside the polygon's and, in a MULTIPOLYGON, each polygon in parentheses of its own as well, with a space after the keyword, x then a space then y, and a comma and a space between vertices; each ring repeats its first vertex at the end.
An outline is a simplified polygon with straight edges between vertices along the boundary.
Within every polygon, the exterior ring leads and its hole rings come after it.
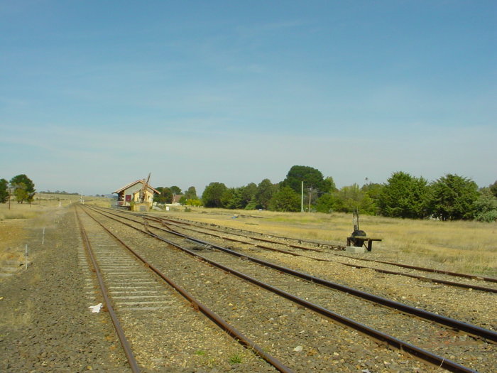
POLYGON ((301 193, 302 181, 304 182, 305 190, 317 190, 318 193, 328 193, 332 190, 333 179, 323 179, 323 174, 316 168, 309 166, 292 166, 288 171, 285 180, 280 186, 288 186, 295 193, 301 193))

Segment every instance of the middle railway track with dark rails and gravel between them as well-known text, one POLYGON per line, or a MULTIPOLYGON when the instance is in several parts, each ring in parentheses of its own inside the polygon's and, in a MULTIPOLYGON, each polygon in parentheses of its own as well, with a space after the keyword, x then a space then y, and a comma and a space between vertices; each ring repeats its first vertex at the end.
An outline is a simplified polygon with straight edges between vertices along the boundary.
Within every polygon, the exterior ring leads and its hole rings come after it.
MULTIPOLYGON (((342 288, 341 292, 330 291, 329 288, 323 287, 323 285, 329 286, 329 281, 321 281, 322 279, 317 279, 312 276, 306 278, 305 276, 300 275, 298 275, 300 276, 300 279, 295 280, 295 273, 292 274, 293 276, 282 276, 282 271, 285 273, 291 273, 292 271, 287 271, 280 266, 269 266, 272 269, 261 268, 261 262, 259 261, 258 264, 255 264, 257 260, 254 261, 253 258, 249 258, 249 256, 244 254, 228 256, 226 255, 226 250, 223 250, 215 244, 209 244, 209 242, 204 242, 193 237, 186 237, 184 234, 173 232, 170 229, 165 229, 160 226, 154 226, 151 223, 143 224, 144 220, 141 220, 139 217, 130 217, 129 214, 126 214, 126 216, 121 213, 116 214, 102 211, 99 211, 99 213, 102 214, 102 216, 107 216, 107 219, 113 220, 113 222, 109 223, 111 225, 126 224, 128 227, 139 230, 143 234, 149 234, 151 237, 161 239, 163 242, 173 244, 175 247, 182 247, 183 252, 195 256, 197 259, 202 259, 202 261, 208 262, 212 266, 217 266, 224 272, 230 271, 231 273, 236 274, 236 276, 243 277, 251 283, 263 286, 266 290, 275 291, 279 296, 290 299, 300 306, 312 310, 314 313, 319 313, 329 319, 344 323, 349 327, 354 326, 354 328, 359 328, 361 333, 370 335, 376 338, 376 340, 381 340, 383 342, 388 341, 393 347, 398 347, 404 352, 417 355, 432 364, 437 364, 440 367, 454 372, 473 371, 475 362, 470 361, 469 365, 471 367, 468 368, 452 361, 453 357, 459 355, 462 347, 464 348, 465 353, 469 354, 468 358, 478 356, 477 360, 481 360, 481 367, 493 366, 493 361, 496 357, 494 345, 496 333, 491 330, 484 330, 483 328, 475 327, 474 325, 457 322, 457 320, 447 320, 447 318, 440 318, 437 315, 430 315, 428 318, 429 321, 423 320, 420 322, 419 318, 426 317, 427 313, 423 313, 416 309, 410 309, 409 307, 406 308, 403 305, 400 305, 402 313, 398 312, 398 310, 392 310, 391 308, 393 308, 393 306, 399 306, 399 304, 395 304, 397 302, 379 300, 383 303, 383 306, 372 306, 371 302, 378 301, 378 297, 368 295, 366 296, 368 301, 365 302, 363 299, 359 298, 359 293, 355 292, 354 289, 342 288), (126 220, 126 222, 124 220, 126 220), (167 234, 168 238, 163 237, 164 234, 167 234), (185 249, 185 246, 189 246, 190 249, 185 249), (200 252, 202 252, 202 254, 200 254, 200 252), (240 261, 239 258, 248 260, 240 261), (277 269, 278 272, 275 272, 274 269, 277 269), (302 279, 307 279, 312 282, 302 281, 302 279), (320 283, 320 286, 317 286, 316 283, 320 283), (343 291, 346 291, 346 293, 343 293, 343 291), (300 295, 303 295, 302 297, 295 297, 290 294, 297 293, 298 295, 299 292, 300 295), (352 293, 354 293, 356 297, 349 295, 352 293), (388 306, 389 308, 386 308, 385 306, 388 306), (366 327, 366 325, 354 322, 354 320, 339 315, 340 313, 349 314, 351 310, 354 310, 355 317, 360 320, 367 320, 368 325, 372 324, 374 325, 374 328, 366 327), (361 310, 361 312, 358 312, 357 310, 361 310), (406 316, 405 313, 407 312, 415 314, 416 317, 406 316), (434 320, 436 320, 437 323, 444 324, 444 326, 441 327, 440 325, 433 323, 434 320), (398 328, 392 329, 392 325, 402 325, 402 328, 400 328, 401 333, 399 334, 398 328), (375 330, 375 328, 378 330, 375 330), (453 328, 465 330, 465 333, 479 335, 479 337, 468 337, 466 334, 454 332, 453 328), (420 333, 420 330, 422 330, 422 333, 420 333), (387 332, 398 333, 400 337, 391 337, 387 332), (408 342, 405 342, 405 340, 408 340, 408 342), (423 347, 434 352, 441 352, 445 357, 440 357, 437 353, 428 352, 423 348, 416 347, 414 342, 417 345, 423 345, 423 347), (451 346, 449 347, 448 345, 451 346)), ((236 255, 236 252, 233 250, 229 251, 231 251, 230 254, 236 255)), ((164 254, 157 254, 156 252, 155 254, 151 253, 151 255, 158 257, 164 256, 164 254)), ((185 255, 182 254, 182 252, 171 250, 170 248, 168 249, 167 256, 169 260, 172 260, 174 257, 175 262, 185 261, 185 255)), ((190 266, 191 264, 188 264, 189 271, 202 271, 202 269, 192 270, 190 266)), ((181 275, 177 274, 177 276, 181 275)), ((215 280, 219 278, 219 274, 213 276, 213 281, 209 281, 209 283, 214 281, 219 282, 219 280, 215 280)), ((225 275, 223 275, 223 277, 224 276, 225 275)), ((225 294, 223 292, 219 294, 220 298, 223 298, 224 296, 225 294)), ((364 295, 361 295, 361 297, 364 298, 364 295)), ((253 298, 256 297, 254 296, 253 298)), ((251 298, 252 301, 253 298, 251 298)), ((229 304, 233 303, 230 302, 229 304)), ((250 306, 246 306, 246 308, 250 309, 250 306)), ((269 306, 269 309, 271 309, 271 306, 269 306)), ((460 359, 464 361, 466 360, 466 357, 463 356, 460 357, 460 359)), ((476 363, 478 363, 478 361, 476 363)), ((476 367, 476 369, 479 368, 476 367)), ((479 370, 481 372, 485 371, 485 369, 479 370)))

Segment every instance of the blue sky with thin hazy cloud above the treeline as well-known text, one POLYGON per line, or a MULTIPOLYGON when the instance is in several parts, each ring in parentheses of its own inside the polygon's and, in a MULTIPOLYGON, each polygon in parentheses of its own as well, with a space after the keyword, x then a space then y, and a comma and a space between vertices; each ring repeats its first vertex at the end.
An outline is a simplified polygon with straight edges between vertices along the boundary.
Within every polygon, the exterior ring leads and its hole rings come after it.
POLYGON ((0 178, 497 179, 497 1, 0 0, 0 178))

